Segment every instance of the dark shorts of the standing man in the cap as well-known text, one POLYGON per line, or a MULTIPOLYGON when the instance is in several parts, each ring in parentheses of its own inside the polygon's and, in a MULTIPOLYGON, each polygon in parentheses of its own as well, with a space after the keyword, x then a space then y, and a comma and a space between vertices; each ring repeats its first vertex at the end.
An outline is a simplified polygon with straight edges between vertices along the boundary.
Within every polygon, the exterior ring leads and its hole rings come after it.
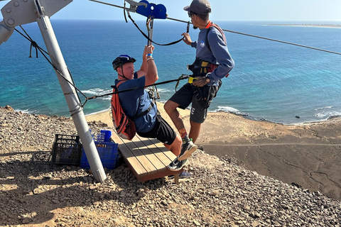
MULTIPOLYGON (((221 83, 221 82, 220 82, 221 83)), ((220 86, 195 87, 192 84, 185 84, 171 96, 171 101, 179 104, 181 109, 186 109, 192 103, 190 109, 190 121, 204 123, 207 116, 207 109, 212 99, 217 95, 220 86)))

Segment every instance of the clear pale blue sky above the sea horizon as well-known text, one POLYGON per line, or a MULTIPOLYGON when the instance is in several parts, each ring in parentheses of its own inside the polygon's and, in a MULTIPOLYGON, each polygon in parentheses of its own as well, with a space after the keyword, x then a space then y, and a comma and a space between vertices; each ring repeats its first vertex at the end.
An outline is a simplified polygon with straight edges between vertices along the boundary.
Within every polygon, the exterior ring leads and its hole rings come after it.
MULTIPOLYGON (((124 2, 106 1, 119 6, 123 6, 124 2)), ((1 1, 0 8, 7 2, 9 1, 1 1)), ((183 7, 188 6, 191 0, 149 2, 165 5, 171 18, 188 20, 183 7)), ((212 21, 341 21, 341 0, 211 0, 210 3, 212 21)), ((122 9, 87 0, 72 1, 53 18, 124 20, 122 9)), ((144 19, 136 16, 134 18, 144 19)))

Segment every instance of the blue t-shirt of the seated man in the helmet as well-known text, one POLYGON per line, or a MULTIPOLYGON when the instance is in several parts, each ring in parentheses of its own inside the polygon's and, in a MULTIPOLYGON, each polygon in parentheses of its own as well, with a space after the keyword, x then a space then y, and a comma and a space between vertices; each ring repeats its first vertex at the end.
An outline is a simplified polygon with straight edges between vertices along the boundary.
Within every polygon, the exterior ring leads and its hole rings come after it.
MULTIPOLYGON (((144 87, 145 77, 140 77, 139 79, 129 79, 126 82, 119 84, 118 90, 131 89, 134 87, 144 87)), ((115 84, 117 84, 119 80, 115 80, 115 84)), ((137 114, 141 114, 146 111, 153 99, 149 96, 148 92, 144 88, 134 89, 129 92, 121 92, 119 93, 119 102, 122 106, 124 113, 131 117, 136 116, 137 114)), ((136 131, 141 133, 147 133, 154 128, 156 124, 156 104, 153 105, 153 108, 139 118, 135 119, 136 131)))

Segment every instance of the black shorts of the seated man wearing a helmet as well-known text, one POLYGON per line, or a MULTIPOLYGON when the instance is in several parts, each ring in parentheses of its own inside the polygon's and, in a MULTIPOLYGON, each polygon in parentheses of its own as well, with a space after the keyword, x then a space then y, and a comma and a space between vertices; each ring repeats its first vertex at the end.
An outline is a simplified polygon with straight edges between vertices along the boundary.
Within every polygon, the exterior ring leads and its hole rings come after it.
POLYGON ((168 145, 171 145, 176 138, 176 133, 173 128, 161 116, 156 117, 156 125, 151 131, 136 133, 144 138, 157 138, 161 143, 168 145))

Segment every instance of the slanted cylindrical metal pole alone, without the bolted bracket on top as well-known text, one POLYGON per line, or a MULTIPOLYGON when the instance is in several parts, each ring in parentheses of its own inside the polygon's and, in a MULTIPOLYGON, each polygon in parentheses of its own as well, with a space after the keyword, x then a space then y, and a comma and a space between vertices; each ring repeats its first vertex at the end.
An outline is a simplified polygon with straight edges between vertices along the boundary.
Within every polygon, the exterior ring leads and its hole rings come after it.
MULTIPOLYGON (((60 50, 57 38, 55 37, 55 33, 50 23, 50 18, 48 16, 40 16, 40 18, 37 18, 37 22, 53 65, 55 65, 59 72, 63 74, 65 79, 72 82, 63 54, 60 50)), ((65 79, 58 74, 58 72, 56 72, 56 74, 60 82, 60 87, 63 89, 67 106, 69 106, 70 114, 72 116, 72 120, 75 123, 77 133, 80 135, 80 140, 82 140, 82 145, 87 155, 87 160, 89 161, 94 179, 102 183, 107 176, 105 175, 96 145, 94 145, 94 140, 92 139, 89 126, 85 120, 82 106, 80 106, 80 101, 77 99, 75 88, 66 82, 65 79)))

